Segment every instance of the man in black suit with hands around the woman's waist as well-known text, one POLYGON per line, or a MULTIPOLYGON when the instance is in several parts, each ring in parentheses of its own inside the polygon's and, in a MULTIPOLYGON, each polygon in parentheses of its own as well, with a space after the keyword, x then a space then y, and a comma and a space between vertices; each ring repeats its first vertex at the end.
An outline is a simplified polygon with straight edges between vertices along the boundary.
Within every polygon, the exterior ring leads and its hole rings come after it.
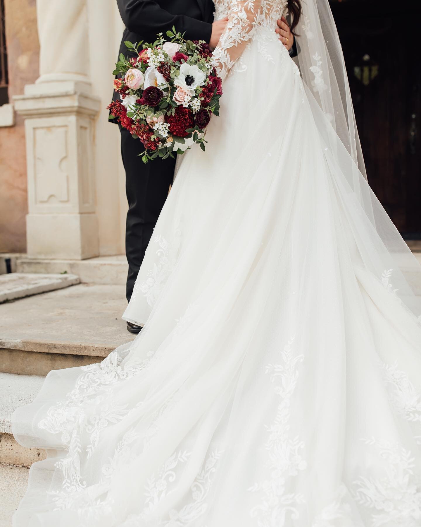
MULTIPOLYGON (((215 7, 212 0, 117 0, 117 5, 126 26, 119 50, 125 56, 131 54, 127 51, 125 41, 154 42, 157 33, 165 35, 173 26, 176 31, 185 33, 188 40, 204 40, 214 48, 228 21, 224 18, 214 22, 215 7)), ((294 37, 285 19, 278 21, 276 32, 290 50, 294 37)), ((113 100, 118 98, 119 95, 114 93, 113 100)), ((128 201, 126 297, 129 301, 146 247, 173 182, 175 159, 168 157, 143 164, 138 157, 142 150, 139 140, 133 139, 124 128, 120 127, 120 131, 128 201)), ((127 329, 131 333, 139 333, 142 328, 128 322, 127 329)))

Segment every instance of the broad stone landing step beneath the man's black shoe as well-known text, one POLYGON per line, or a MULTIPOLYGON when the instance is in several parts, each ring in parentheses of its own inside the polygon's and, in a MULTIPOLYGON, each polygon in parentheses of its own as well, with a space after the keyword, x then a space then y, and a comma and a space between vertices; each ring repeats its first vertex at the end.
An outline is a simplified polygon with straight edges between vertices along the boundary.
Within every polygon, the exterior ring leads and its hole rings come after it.
POLYGON ((93 364, 132 340, 124 287, 79 284, 0 305, 0 372, 46 375, 93 364))

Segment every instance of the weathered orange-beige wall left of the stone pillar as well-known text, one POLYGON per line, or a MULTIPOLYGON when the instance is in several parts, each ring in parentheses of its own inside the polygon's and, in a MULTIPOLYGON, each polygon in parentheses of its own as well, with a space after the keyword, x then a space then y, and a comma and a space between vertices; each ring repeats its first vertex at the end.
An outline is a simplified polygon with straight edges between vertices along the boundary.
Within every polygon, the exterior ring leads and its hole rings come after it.
MULTIPOLYGON (((35 0, 5 0, 9 102, 38 77, 35 0)), ((26 153, 23 119, 0 128, 0 252, 26 250, 26 153)))

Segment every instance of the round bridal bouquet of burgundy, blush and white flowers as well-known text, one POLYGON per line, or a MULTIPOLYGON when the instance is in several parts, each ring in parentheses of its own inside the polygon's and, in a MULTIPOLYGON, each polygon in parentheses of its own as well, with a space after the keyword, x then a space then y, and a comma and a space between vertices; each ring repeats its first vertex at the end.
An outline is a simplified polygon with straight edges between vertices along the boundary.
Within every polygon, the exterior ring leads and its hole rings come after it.
POLYGON ((110 119, 142 141, 142 161, 183 154, 193 143, 205 150, 206 126, 219 115, 222 81, 212 51, 204 41, 184 40, 180 33, 162 33, 154 44, 125 42, 134 57, 116 64, 114 89, 120 101, 109 106, 110 119))

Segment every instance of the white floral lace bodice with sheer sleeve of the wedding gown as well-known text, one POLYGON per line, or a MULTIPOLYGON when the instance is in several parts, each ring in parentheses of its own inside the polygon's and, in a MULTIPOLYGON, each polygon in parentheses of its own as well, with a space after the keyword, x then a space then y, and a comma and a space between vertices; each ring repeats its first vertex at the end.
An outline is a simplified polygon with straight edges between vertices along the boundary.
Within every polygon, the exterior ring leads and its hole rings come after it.
POLYGON ((214 4, 215 19, 229 18, 214 52, 219 75, 225 77, 258 27, 275 32, 287 0, 214 0, 214 4))

